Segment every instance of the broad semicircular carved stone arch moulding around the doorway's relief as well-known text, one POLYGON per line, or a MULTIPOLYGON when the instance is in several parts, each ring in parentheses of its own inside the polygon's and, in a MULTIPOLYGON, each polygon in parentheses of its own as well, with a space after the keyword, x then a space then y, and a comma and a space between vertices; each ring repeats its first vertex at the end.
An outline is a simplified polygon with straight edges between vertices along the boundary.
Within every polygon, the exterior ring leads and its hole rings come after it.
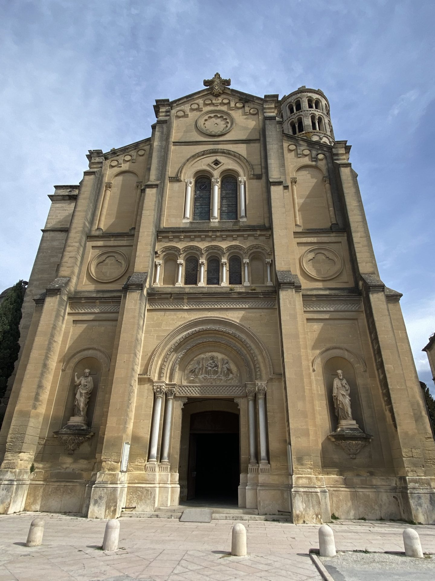
POLYGON ((273 375, 269 353, 267 353, 263 342, 251 329, 225 317, 198 317, 179 325, 161 340, 151 356, 148 377, 161 381, 164 378, 169 357, 180 343, 195 333, 216 333, 216 331, 229 336, 229 339, 235 339, 235 342, 240 342, 245 347, 255 368, 256 379, 267 379, 262 377, 262 368, 264 374, 269 374, 269 377, 273 375), (161 361, 158 368, 156 368, 157 358, 161 361))

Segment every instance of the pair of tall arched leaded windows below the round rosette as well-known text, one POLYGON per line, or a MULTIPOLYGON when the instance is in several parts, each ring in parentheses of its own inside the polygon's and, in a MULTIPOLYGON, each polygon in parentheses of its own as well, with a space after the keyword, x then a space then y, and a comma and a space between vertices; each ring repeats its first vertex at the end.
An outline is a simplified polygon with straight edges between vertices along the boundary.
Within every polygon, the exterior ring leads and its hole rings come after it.
MULTIPOLYGON (((200 175, 195 180, 193 219, 209 221, 212 184, 207 175, 200 175)), ((220 220, 237 220, 237 179, 225 175, 220 184, 220 220)))

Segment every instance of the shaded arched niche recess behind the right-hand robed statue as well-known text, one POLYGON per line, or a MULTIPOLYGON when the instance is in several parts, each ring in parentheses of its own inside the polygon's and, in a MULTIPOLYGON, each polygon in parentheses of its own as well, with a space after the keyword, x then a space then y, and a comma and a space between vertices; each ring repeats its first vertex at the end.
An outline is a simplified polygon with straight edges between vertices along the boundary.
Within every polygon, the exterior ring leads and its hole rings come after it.
POLYGON ((338 418, 335 415, 334 404, 332 399, 333 381, 338 376, 337 371, 341 370, 347 383, 350 387, 350 406, 352 417, 357 422, 360 429, 364 432, 364 416, 362 413, 360 388, 358 385, 358 377, 354 366, 345 357, 335 356, 329 357, 323 365, 324 385, 329 410, 329 422, 331 424, 331 432, 337 428, 338 418))

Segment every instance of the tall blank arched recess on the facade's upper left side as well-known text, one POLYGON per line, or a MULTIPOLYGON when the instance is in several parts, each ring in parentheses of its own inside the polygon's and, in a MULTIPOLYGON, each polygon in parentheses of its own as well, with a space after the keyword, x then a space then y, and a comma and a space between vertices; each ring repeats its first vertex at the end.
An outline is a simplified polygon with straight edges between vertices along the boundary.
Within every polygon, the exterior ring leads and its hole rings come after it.
POLYGON ((133 228, 133 218, 137 199, 137 174, 132 171, 122 171, 112 180, 112 188, 108 199, 105 232, 128 232, 133 228))

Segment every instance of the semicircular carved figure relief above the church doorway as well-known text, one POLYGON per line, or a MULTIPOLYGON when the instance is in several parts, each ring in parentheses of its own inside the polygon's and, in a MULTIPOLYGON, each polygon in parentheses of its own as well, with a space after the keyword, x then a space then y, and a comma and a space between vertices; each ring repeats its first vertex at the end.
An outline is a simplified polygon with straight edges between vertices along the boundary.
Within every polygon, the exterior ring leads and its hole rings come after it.
POLYGON ((228 358, 206 354, 187 365, 184 383, 238 383, 238 372, 228 358))

